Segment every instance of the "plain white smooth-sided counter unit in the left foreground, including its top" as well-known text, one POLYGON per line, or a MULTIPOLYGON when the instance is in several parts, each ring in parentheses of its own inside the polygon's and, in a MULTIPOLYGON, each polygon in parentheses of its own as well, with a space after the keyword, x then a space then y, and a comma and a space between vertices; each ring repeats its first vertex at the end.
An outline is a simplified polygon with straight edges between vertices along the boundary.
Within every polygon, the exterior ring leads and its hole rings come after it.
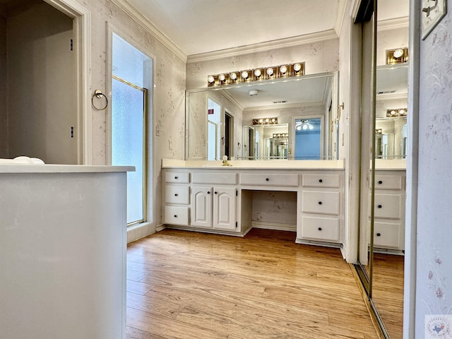
POLYGON ((126 338, 126 171, 0 165, 0 337, 126 338))

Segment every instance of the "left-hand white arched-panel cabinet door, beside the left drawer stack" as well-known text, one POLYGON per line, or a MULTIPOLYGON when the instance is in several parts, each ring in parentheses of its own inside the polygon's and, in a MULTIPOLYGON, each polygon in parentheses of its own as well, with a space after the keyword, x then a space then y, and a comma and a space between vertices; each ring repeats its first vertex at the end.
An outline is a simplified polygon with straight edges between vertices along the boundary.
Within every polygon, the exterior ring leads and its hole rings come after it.
POLYGON ((212 227, 212 187, 191 188, 191 226, 212 227))

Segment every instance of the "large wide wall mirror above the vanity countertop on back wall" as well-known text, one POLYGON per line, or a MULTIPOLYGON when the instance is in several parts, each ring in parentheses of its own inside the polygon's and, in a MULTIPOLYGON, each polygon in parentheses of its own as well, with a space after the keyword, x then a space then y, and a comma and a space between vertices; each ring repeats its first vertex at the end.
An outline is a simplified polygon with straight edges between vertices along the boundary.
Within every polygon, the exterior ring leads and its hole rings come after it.
POLYGON ((186 160, 338 157, 338 73, 186 93, 186 160))

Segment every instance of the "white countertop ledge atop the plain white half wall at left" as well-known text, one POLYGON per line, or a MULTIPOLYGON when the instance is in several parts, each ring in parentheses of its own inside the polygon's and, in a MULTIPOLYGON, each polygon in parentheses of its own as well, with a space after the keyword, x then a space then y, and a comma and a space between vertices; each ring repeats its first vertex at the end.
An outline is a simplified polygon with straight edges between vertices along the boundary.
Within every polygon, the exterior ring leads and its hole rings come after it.
POLYGON ((135 172, 135 167, 104 166, 104 165, 0 164, 0 173, 103 173, 103 172, 135 172))

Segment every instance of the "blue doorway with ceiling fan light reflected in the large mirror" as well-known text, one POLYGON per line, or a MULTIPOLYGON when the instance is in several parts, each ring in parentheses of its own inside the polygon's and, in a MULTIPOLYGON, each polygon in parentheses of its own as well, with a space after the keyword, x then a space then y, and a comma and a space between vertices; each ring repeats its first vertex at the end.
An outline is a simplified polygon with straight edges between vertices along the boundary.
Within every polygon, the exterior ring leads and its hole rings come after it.
POLYGON ((321 159, 321 118, 295 119, 295 159, 321 159))

